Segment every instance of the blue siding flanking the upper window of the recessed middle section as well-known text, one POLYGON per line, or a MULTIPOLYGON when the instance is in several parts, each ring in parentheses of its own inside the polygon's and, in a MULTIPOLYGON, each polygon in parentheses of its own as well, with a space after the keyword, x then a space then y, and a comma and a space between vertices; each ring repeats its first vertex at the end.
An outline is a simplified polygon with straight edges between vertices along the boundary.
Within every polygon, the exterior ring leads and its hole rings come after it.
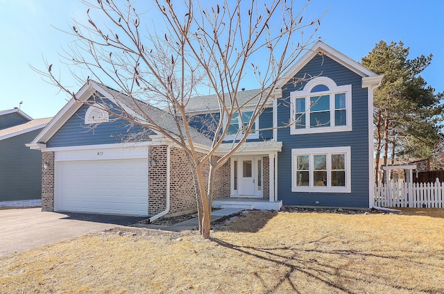
MULTIPOLYGON (((193 126, 203 134, 210 138, 214 137, 214 130, 216 129, 216 123, 214 120, 219 121, 220 115, 214 114, 196 114, 189 116, 189 124, 193 126)), ((264 109, 262 114, 259 115, 259 129, 273 128, 273 108, 269 107, 264 109)), ((248 141, 266 141, 273 139, 273 130, 259 131, 258 139, 248 139, 248 141)))

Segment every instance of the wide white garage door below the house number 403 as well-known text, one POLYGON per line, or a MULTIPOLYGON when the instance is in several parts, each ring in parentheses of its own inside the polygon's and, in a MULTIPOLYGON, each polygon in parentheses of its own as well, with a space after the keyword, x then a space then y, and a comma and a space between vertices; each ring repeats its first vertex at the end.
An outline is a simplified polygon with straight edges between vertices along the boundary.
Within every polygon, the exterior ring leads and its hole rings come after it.
POLYGON ((58 171, 56 210, 148 215, 146 158, 59 162, 58 171))

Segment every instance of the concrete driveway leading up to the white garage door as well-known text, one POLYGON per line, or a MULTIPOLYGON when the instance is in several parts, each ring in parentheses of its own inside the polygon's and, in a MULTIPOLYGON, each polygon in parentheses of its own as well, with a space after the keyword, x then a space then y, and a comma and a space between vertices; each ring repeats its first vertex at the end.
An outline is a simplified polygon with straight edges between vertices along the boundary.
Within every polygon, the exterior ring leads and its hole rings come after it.
POLYGON ((40 208, 0 210, 0 257, 146 218, 57 213, 40 208))

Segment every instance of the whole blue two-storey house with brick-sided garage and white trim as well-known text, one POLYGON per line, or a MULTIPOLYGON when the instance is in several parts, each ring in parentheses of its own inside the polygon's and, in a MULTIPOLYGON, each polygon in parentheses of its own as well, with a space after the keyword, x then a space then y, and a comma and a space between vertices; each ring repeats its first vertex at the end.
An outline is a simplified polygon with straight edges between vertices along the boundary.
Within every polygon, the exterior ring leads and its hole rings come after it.
MULTIPOLYGON (((372 207, 373 91, 382 76, 317 42, 283 77, 255 121, 257 131, 218 171, 214 207, 372 207), (314 78, 293 83, 303 76, 314 78), (289 121, 298 124, 279 128, 289 121), (270 129, 259 131, 263 128, 270 129)), ((247 90, 239 98, 248 101, 256 94, 247 90)), ((146 141, 122 143, 140 130, 108 117, 100 105, 82 103, 94 96, 131 109, 127 96, 90 80, 76 94, 78 101, 69 101, 28 145, 42 151, 46 166, 42 209, 155 217, 196 210, 183 150, 151 130, 146 141), (85 131, 97 122, 94 132, 85 131)), ((203 96, 187 106, 201 153, 210 150, 208 137, 214 135, 208 119, 223 119, 213 104, 212 96, 203 96)), ((142 102, 137 106, 171 121, 167 112, 142 102)), ((248 106, 242 117, 250 116, 248 106)), ((234 117, 228 131, 237 132, 241 123, 234 117)), ((218 151, 230 146, 227 140, 218 151)))

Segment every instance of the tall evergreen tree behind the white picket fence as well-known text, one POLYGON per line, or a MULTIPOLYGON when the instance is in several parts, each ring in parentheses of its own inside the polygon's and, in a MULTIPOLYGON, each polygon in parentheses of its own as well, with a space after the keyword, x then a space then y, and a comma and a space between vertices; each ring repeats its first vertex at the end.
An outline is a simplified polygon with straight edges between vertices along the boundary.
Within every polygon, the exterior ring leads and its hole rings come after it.
POLYGON ((443 121, 443 94, 434 94, 420 73, 432 62, 432 54, 407 59, 409 47, 402 42, 380 41, 361 63, 383 74, 374 96, 375 181, 382 164, 395 157, 430 158, 443 121))

